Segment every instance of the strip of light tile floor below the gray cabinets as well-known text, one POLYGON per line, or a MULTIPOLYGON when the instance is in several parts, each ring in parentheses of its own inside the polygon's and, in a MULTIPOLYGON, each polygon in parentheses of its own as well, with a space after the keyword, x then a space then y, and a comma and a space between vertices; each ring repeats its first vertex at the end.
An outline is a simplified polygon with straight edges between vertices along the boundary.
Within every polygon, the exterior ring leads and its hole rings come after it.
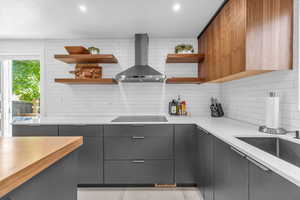
POLYGON ((78 200, 202 200, 197 188, 79 188, 78 200))

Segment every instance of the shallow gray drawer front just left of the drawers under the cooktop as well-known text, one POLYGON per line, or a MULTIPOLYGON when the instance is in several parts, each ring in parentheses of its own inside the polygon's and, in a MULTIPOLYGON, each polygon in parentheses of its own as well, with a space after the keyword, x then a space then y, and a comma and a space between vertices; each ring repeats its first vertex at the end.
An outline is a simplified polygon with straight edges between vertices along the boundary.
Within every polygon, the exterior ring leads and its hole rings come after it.
POLYGON ((98 125, 61 125, 59 126, 60 136, 103 136, 103 126, 98 125))

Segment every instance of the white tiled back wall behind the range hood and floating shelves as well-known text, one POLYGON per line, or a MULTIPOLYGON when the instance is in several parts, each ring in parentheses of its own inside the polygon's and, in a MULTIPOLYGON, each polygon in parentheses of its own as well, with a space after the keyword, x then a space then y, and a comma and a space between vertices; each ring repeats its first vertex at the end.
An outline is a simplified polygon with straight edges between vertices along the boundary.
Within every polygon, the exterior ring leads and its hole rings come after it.
MULTIPOLYGON (((172 76, 197 76, 197 64, 165 64, 168 53, 180 43, 197 47, 196 39, 151 39, 149 64, 172 76)), ((119 114, 162 114, 171 98, 181 94, 193 116, 209 115, 211 96, 219 96, 218 84, 165 85, 161 83, 124 83, 121 85, 65 85, 55 78, 68 78, 74 65, 54 59, 65 54, 64 46, 97 46, 101 53, 112 53, 119 64, 103 65, 104 77, 113 77, 134 64, 133 39, 99 40, 2 40, 0 56, 7 54, 41 54, 43 67, 43 117, 89 117, 119 114)))

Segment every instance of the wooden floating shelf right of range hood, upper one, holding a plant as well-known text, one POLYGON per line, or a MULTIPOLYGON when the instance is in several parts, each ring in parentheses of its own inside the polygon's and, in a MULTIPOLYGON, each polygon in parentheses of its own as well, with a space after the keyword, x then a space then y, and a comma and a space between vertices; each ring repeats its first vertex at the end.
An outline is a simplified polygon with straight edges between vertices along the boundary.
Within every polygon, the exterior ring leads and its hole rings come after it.
POLYGON ((166 63, 200 63, 204 54, 168 54, 166 63))

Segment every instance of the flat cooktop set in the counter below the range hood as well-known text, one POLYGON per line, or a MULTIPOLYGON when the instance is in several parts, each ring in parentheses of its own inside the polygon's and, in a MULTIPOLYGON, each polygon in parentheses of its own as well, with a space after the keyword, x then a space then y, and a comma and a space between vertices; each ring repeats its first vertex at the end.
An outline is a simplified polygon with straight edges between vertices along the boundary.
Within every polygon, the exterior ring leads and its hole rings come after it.
POLYGON ((161 115, 119 116, 112 122, 167 122, 167 118, 161 115))

